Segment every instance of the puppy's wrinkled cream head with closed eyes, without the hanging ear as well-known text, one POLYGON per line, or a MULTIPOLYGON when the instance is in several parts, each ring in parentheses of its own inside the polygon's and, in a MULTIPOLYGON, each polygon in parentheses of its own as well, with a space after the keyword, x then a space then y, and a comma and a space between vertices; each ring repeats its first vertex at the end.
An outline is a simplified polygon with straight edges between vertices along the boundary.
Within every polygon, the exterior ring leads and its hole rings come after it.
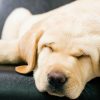
MULTIPOLYGON (((55 31, 45 32, 41 36, 37 43, 37 63, 34 70, 39 91, 75 99, 86 83, 96 76, 98 52, 93 46, 84 45, 82 39, 55 31)), ((31 56, 33 61, 36 54, 31 56)))

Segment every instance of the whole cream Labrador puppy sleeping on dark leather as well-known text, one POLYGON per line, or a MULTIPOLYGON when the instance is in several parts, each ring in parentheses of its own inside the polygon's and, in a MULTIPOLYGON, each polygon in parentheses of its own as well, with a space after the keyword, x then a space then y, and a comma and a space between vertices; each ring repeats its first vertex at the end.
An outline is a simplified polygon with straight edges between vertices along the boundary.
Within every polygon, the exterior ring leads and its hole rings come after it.
POLYGON ((34 71, 41 92, 76 99, 86 83, 100 76, 100 0, 78 0, 32 15, 24 8, 7 18, 0 40, 0 63, 20 63, 34 71))

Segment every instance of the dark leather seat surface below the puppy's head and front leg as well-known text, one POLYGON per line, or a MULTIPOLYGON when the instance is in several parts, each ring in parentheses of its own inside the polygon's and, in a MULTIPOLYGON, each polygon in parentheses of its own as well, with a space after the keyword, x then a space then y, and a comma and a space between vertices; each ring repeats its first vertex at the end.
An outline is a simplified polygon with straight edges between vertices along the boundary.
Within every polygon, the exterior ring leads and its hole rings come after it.
MULTIPOLYGON (((21 75, 14 66, 0 66, 0 100, 69 100, 40 93, 35 87, 32 73, 21 75)), ((100 79, 92 80, 77 100, 100 100, 100 79)))

